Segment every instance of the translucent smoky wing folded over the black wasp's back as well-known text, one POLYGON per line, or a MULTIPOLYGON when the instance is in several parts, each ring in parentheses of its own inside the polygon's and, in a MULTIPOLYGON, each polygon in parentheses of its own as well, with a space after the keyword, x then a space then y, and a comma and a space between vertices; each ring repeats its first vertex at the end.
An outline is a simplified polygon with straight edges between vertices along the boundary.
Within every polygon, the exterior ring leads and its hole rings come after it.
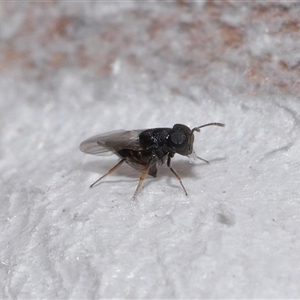
POLYGON ((80 144, 82 152, 94 155, 105 155, 121 149, 143 150, 139 134, 144 130, 116 130, 93 136, 80 144))

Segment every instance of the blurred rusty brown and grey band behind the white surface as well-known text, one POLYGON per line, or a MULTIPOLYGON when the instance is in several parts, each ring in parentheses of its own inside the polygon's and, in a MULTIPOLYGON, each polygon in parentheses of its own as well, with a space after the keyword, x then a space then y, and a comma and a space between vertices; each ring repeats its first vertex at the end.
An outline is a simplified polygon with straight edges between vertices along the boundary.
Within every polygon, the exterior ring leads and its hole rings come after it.
POLYGON ((199 82, 211 93, 226 82, 232 93, 297 94, 298 10, 288 1, 5 2, 1 70, 39 82, 72 70, 107 86, 126 68, 174 94, 199 82))

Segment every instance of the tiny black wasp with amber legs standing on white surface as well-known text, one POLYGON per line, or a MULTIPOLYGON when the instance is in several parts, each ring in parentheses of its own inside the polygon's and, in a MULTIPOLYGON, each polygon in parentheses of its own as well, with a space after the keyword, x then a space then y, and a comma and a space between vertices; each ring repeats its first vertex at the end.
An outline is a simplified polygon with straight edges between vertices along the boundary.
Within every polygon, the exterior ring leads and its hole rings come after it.
POLYGON ((182 124, 175 124, 173 128, 153 128, 146 130, 117 130, 91 137, 80 144, 82 152, 94 155, 103 155, 107 152, 115 153, 121 160, 107 173, 95 181, 95 186, 101 179, 116 171, 124 162, 137 169, 142 174, 136 187, 134 198, 141 189, 147 174, 156 177, 156 164, 167 166, 179 180, 185 194, 179 174, 171 166, 171 158, 176 153, 185 156, 197 157, 208 163, 207 160, 196 156, 193 151, 194 131, 206 126, 225 126, 222 123, 209 123, 193 128, 182 124))

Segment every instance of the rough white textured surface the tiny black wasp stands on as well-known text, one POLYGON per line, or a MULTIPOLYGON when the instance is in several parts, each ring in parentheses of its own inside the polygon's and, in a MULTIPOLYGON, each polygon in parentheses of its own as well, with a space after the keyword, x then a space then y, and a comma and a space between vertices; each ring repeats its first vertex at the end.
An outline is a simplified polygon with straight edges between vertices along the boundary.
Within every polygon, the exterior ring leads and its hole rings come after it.
MULTIPOLYGON (((243 21, 234 15, 223 19, 243 21)), ((154 80, 122 59, 107 78, 2 72, 0 298, 300 297, 299 98, 270 83, 241 92, 246 79, 230 67, 207 68, 204 85, 182 81, 176 63, 154 80), (166 166, 136 201, 129 166, 89 189, 117 157, 81 153, 85 138, 214 121, 226 127, 195 134, 210 165, 173 159, 188 197, 166 166)))

